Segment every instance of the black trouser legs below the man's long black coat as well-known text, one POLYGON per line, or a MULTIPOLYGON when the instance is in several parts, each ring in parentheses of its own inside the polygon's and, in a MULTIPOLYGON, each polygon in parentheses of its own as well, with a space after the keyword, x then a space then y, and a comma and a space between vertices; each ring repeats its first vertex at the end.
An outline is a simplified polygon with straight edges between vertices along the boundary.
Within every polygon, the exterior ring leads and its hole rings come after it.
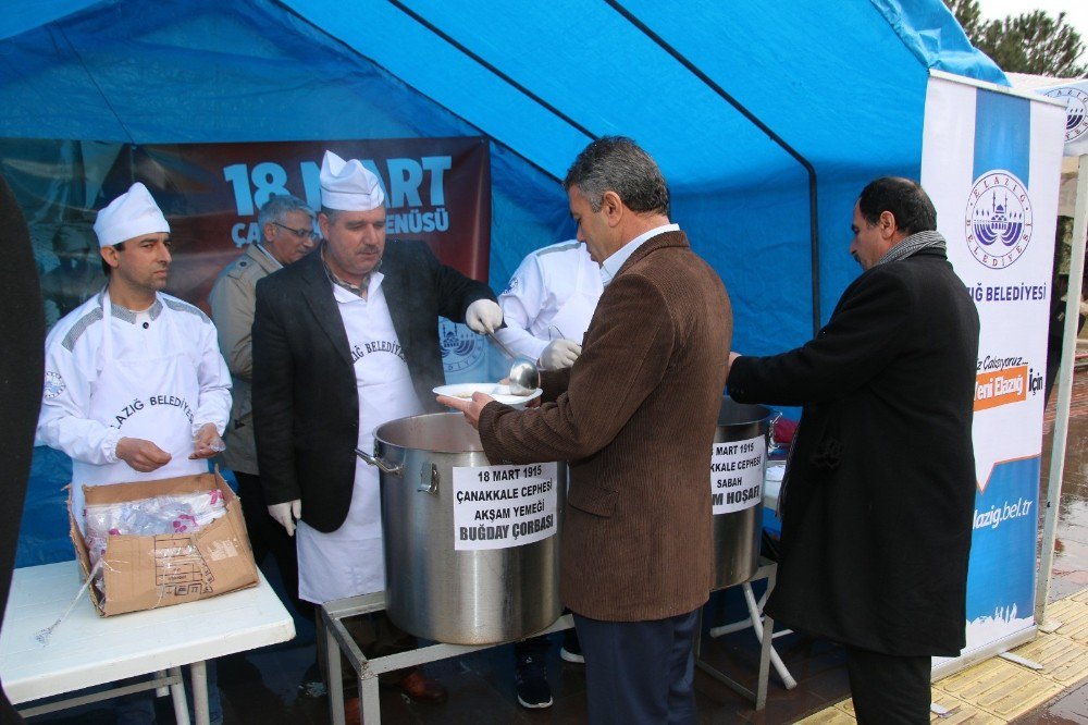
POLYGON ((930 658, 881 654, 853 647, 845 650, 850 695, 858 723, 929 723, 930 658))

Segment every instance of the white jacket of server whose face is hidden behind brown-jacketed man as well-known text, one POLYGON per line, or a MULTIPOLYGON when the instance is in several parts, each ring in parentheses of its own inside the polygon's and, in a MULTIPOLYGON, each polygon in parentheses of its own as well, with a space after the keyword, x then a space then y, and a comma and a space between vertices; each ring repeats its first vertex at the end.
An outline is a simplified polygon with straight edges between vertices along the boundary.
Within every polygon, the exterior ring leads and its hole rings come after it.
POLYGON ((506 325, 496 335, 510 349, 539 359, 559 337, 581 344, 601 298, 601 267, 577 239, 526 257, 498 296, 506 325))

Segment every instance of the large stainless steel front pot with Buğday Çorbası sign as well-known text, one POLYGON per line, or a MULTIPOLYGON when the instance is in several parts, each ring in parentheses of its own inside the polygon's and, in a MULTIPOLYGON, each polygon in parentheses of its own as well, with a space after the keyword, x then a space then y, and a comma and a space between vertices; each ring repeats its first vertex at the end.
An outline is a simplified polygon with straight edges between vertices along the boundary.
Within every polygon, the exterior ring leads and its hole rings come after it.
MULTIPOLYGON (((401 629, 452 644, 491 644, 543 629, 561 613, 559 463, 556 533, 506 549, 457 551, 454 469, 491 463, 460 413, 392 420, 374 432, 385 536, 385 609, 401 629)), ((460 474, 463 476, 463 471, 460 474)))

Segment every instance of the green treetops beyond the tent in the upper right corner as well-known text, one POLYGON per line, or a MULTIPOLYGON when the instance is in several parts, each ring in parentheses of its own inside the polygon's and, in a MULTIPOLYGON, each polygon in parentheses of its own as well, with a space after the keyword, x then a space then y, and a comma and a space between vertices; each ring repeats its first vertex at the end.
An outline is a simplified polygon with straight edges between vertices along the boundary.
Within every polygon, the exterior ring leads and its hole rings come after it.
POLYGON ((1034 73, 1060 78, 1088 77, 1088 64, 1078 63, 1085 44, 1065 13, 1054 20, 1035 10, 1002 21, 984 21, 978 0, 944 0, 972 45, 1010 73, 1034 73))

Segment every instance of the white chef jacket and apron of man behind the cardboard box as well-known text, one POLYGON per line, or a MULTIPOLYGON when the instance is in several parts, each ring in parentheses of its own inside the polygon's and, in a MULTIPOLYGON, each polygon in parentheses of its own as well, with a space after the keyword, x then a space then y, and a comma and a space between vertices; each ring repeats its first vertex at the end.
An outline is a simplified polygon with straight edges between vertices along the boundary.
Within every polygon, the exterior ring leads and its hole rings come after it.
POLYGON ((230 414, 231 374, 215 328, 176 297, 158 293, 150 308, 133 312, 112 305, 103 290, 46 339, 35 444, 72 457, 73 511, 81 526, 84 484, 207 471, 207 460, 188 458, 194 435, 209 422, 222 434, 230 414), (153 471, 137 471, 118 458, 122 438, 149 440, 172 458, 153 471))

